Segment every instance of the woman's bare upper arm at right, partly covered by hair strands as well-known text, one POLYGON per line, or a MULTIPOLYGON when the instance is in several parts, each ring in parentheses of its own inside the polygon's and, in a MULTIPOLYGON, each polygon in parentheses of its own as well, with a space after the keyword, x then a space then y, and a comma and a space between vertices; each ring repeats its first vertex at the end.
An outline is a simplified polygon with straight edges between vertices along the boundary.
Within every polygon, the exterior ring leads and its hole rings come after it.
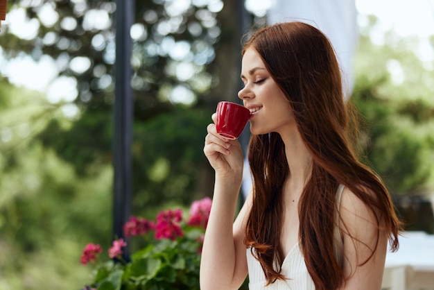
POLYGON ((380 290, 388 248, 387 232, 378 230, 383 223, 380 221, 378 225, 373 210, 347 187, 342 193, 340 214, 344 239, 344 275, 347 279, 342 289, 380 290))

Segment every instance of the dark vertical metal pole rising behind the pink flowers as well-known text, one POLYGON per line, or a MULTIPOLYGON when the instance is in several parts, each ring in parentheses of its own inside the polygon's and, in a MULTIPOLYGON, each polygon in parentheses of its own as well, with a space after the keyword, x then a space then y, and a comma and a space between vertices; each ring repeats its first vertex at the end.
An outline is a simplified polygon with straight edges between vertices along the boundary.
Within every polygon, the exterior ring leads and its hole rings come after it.
MULTIPOLYGON (((130 218, 131 143, 133 100, 131 77, 130 28, 134 19, 133 0, 116 1, 116 62, 114 65, 114 135, 113 135, 113 239, 123 238, 123 224, 130 218)), ((123 259, 130 259, 130 247, 123 249, 123 259)))

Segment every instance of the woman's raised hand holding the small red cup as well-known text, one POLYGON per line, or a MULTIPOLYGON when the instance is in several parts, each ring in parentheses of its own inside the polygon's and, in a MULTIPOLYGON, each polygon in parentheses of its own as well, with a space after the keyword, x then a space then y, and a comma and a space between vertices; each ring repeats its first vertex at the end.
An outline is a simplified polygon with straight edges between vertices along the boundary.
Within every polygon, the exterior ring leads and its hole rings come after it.
MULTIPOLYGON (((211 119, 216 120, 216 113, 211 119)), ((218 135, 214 123, 208 125, 207 131, 203 151, 216 171, 216 176, 242 180, 244 156, 239 142, 218 135)))

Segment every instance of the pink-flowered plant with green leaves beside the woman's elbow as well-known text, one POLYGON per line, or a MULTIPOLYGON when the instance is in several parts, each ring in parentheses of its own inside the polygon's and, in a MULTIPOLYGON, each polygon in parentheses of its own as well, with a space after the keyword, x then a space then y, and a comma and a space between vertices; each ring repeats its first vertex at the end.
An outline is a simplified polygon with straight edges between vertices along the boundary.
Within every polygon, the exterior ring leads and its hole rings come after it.
MULTIPOLYGON (((108 257, 116 262, 99 264, 93 282, 84 289, 199 289, 200 253, 210 210, 211 199, 203 198, 192 203, 188 221, 181 210, 159 212, 156 221, 132 216, 123 226, 125 237, 140 236, 147 245, 126 262, 122 259, 126 242, 113 241, 108 257)), ((100 245, 87 244, 80 262, 95 263, 101 253, 100 245)))

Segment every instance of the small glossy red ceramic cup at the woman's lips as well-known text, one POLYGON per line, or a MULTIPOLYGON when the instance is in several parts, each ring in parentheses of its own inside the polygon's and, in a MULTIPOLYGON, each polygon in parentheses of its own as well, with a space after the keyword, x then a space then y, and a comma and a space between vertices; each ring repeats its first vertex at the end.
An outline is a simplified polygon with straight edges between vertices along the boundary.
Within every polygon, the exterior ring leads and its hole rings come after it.
POLYGON ((217 104, 217 133, 227 139, 236 139, 241 135, 250 117, 248 108, 231 102, 217 104))

